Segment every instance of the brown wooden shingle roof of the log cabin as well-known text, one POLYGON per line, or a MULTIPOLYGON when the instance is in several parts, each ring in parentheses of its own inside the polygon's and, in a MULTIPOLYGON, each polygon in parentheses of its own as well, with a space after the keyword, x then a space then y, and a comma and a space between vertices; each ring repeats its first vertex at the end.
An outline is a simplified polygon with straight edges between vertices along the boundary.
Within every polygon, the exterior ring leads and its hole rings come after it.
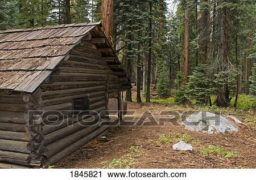
MULTIPOLYGON (((34 92, 92 29, 102 32, 100 25, 82 23, 0 31, 0 89, 34 92)), ((110 55, 115 56, 114 52, 110 55)))

